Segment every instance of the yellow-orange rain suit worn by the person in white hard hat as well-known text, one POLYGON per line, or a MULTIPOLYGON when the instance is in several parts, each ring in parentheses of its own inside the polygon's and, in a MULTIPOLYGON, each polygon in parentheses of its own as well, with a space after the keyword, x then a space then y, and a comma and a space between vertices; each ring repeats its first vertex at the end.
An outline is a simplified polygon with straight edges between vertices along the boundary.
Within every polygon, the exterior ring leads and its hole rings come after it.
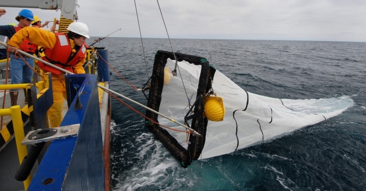
MULTIPOLYGON (((37 27, 24 27, 23 29, 16 32, 13 37, 11 37, 8 45, 19 48, 24 39, 28 39, 29 42, 48 49, 52 49, 56 44, 56 35, 53 32, 49 32, 47 30, 37 27)), ((71 47, 75 46, 74 41, 71 39, 70 45, 71 47)), ((75 53, 76 50, 73 49, 73 52, 75 53)), ((86 56, 84 60, 81 60, 79 63, 73 66, 74 73, 85 73, 85 70, 83 68, 85 60, 86 56)), ((51 127, 59 127, 63 119, 62 111, 64 108, 64 98, 66 99, 64 74, 52 74, 52 89, 53 105, 48 110, 48 118, 50 120, 51 127)))

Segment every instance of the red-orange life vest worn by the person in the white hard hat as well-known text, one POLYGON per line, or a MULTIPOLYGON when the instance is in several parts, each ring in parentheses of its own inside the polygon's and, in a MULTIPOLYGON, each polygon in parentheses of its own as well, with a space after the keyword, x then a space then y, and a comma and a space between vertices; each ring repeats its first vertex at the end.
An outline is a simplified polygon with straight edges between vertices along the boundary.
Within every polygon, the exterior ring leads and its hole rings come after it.
MULTIPOLYGON (((68 71, 73 72, 72 66, 79 63, 85 58, 86 48, 81 45, 76 49, 75 54, 72 55, 72 47, 68 36, 62 32, 55 32, 56 44, 52 49, 44 49, 45 56, 43 60, 50 62, 58 67, 64 68, 68 71)), ((43 48, 41 48, 42 50, 43 48)), ((36 63, 43 71, 51 72, 54 75, 59 75, 62 72, 56 68, 46 65, 40 61, 36 63)))

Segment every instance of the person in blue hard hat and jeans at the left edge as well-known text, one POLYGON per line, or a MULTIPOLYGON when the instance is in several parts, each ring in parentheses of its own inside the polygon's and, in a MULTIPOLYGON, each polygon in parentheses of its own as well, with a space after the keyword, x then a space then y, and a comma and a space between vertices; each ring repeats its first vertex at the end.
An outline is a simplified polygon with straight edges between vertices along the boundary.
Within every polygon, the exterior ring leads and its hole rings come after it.
MULTIPOLYGON (((8 36, 9 39, 20 29, 31 26, 33 19, 33 13, 32 11, 29 11, 27 9, 23 9, 19 12, 18 16, 15 17, 15 20, 17 20, 19 23, 17 25, 3 25, 0 26, 0 35, 8 36)), ((29 54, 39 54, 38 53, 38 45, 32 44, 27 39, 25 39, 20 48, 20 50, 27 52, 29 54)), ((34 59, 24 56, 23 57, 25 61, 31 65, 31 67, 34 67, 34 59)), ((29 68, 24 61, 14 55, 10 55, 10 70, 11 70, 11 84, 28 84, 32 82, 32 75, 33 70, 32 68, 29 68)), ((19 89, 11 89, 9 90, 10 99, 11 99, 11 105, 17 105, 17 99, 18 99, 18 93, 19 89)), ((24 89, 24 96, 25 96, 25 104, 27 104, 27 96, 24 89)))

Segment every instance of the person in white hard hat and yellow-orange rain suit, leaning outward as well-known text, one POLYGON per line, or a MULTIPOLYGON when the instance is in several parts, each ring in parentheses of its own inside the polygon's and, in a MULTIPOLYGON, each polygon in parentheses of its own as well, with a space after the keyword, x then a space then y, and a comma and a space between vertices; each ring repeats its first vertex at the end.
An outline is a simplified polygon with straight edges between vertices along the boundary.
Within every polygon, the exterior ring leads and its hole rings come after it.
MULTIPOLYGON (((9 41, 9 51, 17 53, 23 39, 41 46, 45 57, 43 60, 73 73, 85 73, 83 64, 86 59, 85 39, 89 38, 89 29, 82 22, 73 22, 67 28, 68 34, 62 32, 49 32, 37 27, 25 27, 13 35, 9 41)), ((45 72, 52 73, 53 105, 48 110, 51 127, 59 127, 62 122, 64 98, 66 99, 66 86, 64 72, 51 66, 36 63, 45 72)))

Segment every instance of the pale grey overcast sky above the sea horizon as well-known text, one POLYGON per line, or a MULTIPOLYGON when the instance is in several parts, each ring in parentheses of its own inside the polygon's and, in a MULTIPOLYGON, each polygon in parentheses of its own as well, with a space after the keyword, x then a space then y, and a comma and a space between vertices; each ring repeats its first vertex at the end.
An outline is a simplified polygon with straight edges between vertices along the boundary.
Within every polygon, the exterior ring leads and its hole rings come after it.
MULTIPOLYGON (((9 0, 10 1, 10 0, 9 0)), ((90 36, 140 37, 133 0, 79 0, 79 21, 90 36)), ((171 38, 366 42, 364 0, 159 0, 171 38)), ((142 37, 166 38, 155 0, 136 0, 142 37)), ((5 8, 0 25, 17 23, 5 8)), ((30 9, 42 21, 60 11, 30 9)), ((49 24, 51 27, 51 24, 49 24)))

